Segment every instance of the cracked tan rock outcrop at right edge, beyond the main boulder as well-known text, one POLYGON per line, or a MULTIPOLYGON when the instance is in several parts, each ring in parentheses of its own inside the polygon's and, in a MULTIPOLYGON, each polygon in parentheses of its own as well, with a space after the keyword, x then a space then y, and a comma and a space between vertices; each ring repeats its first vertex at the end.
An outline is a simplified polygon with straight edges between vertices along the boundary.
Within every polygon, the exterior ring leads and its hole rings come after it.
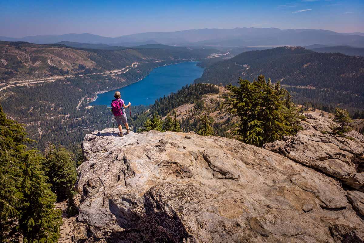
POLYGON ((355 131, 348 138, 333 135, 333 121, 305 114, 305 130, 286 141, 265 144, 264 148, 318 169, 342 180, 355 189, 364 191, 364 136, 355 131))

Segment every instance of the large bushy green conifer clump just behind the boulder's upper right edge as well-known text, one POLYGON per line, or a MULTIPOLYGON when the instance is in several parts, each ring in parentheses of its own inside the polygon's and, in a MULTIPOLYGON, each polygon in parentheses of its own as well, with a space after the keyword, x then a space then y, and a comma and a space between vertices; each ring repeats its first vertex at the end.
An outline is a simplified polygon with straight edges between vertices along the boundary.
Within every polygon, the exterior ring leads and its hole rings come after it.
POLYGON ((250 83, 239 79, 239 87, 228 85, 229 94, 225 105, 240 121, 232 135, 248 144, 262 146, 283 135, 292 135, 298 129, 297 112, 290 101, 289 93, 259 75, 250 83))

